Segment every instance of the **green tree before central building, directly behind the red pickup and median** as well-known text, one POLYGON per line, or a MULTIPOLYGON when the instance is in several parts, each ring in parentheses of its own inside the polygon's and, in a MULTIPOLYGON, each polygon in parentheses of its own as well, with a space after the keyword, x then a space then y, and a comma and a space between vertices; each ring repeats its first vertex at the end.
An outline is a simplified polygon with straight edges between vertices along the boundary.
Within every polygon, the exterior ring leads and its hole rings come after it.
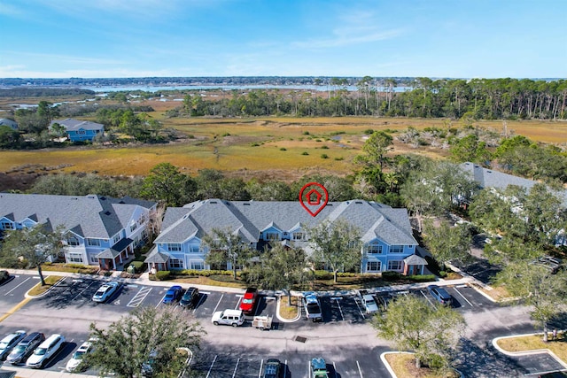
POLYGON ((291 288, 311 278, 308 266, 304 250, 276 243, 260 255, 260 264, 252 266, 248 277, 262 289, 284 290, 291 300, 291 288))

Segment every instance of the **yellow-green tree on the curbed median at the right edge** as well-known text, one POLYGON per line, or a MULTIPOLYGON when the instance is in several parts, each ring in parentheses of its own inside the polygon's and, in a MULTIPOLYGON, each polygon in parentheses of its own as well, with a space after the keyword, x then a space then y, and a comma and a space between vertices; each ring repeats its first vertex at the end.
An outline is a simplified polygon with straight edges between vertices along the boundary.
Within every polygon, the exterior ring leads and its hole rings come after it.
POLYGON ((551 274, 546 266, 516 261, 496 274, 495 282, 505 285, 513 297, 531 307, 535 326, 543 329, 543 341, 547 342, 549 321, 566 310, 567 272, 551 274))

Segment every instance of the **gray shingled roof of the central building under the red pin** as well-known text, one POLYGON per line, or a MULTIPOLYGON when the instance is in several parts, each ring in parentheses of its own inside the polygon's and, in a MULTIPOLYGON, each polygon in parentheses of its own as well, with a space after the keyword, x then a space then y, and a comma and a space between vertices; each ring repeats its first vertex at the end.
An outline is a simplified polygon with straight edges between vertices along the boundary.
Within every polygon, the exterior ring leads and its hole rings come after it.
POLYGON ((183 243, 192 236, 202 238, 214 228, 238 232, 244 240, 257 243, 260 232, 269 227, 289 232, 299 224, 313 228, 324 220, 346 220, 360 229, 365 242, 379 237, 389 244, 417 245, 405 209, 362 200, 329 203, 316 217, 297 201, 198 201, 167 208, 154 243, 183 243))

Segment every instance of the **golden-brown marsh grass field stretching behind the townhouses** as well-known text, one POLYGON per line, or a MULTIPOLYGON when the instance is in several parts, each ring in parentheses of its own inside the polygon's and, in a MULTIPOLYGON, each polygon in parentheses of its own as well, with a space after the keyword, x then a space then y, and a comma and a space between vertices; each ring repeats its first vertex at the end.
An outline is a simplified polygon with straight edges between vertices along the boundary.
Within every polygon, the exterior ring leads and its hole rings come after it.
MULTIPOLYGON (((154 104, 149 103, 153 106, 154 104)), ((391 154, 418 153, 447 157, 440 147, 412 147, 395 136, 416 127, 462 127, 459 120, 374 117, 328 118, 166 118, 163 107, 149 113, 164 127, 186 138, 167 144, 71 146, 62 149, 0 150, 0 172, 47 169, 50 173, 82 172, 105 175, 145 175, 162 162, 185 174, 213 168, 244 179, 259 177, 291 181, 305 174, 353 172, 353 158, 361 154, 369 129, 392 132, 391 154), (52 169, 53 167, 60 167, 52 169), (28 168, 31 167, 31 168, 28 168)), ((475 121, 475 127, 500 133, 501 120, 475 121)), ((567 122, 507 121, 508 132, 533 141, 567 143, 567 122)))

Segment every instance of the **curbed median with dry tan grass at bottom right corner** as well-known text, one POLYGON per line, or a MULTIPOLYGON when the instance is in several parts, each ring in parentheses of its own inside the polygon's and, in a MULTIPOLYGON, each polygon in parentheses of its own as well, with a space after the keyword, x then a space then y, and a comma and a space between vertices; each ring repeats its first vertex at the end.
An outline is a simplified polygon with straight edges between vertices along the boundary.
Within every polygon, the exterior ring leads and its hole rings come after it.
POLYGON ((553 333, 548 332, 547 343, 543 341, 543 334, 540 333, 498 337, 493 340, 493 345, 510 356, 547 352, 567 369, 567 331, 564 330, 557 332, 555 340, 553 333))

